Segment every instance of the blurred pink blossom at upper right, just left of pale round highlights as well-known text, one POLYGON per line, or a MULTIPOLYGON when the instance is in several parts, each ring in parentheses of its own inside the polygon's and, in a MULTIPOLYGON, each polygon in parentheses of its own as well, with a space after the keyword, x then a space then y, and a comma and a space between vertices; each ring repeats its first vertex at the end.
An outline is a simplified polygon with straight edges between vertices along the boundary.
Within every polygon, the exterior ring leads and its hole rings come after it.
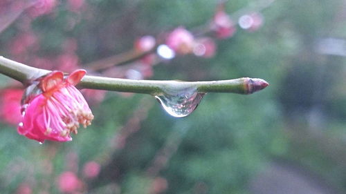
POLYGON ((217 10, 214 18, 212 19, 211 28, 216 32, 216 36, 219 39, 232 37, 237 30, 232 19, 230 19, 230 16, 224 12, 223 8, 217 10))

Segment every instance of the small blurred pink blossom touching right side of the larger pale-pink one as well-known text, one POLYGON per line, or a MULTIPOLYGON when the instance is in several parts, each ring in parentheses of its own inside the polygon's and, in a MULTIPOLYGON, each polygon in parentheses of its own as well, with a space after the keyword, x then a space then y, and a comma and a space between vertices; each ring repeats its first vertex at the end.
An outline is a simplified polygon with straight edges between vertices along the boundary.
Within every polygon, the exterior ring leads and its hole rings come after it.
POLYGON ((197 39, 194 43, 194 55, 206 58, 214 57, 216 48, 217 46, 213 39, 207 37, 197 39))

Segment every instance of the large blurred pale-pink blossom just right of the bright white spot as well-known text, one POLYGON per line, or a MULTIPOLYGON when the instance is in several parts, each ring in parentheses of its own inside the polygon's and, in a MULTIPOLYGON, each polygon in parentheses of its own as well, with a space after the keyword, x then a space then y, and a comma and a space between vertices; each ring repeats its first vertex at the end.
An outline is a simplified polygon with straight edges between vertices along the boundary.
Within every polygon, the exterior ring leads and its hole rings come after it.
POLYGON ((166 44, 176 53, 186 55, 192 52, 194 36, 185 28, 179 27, 170 32, 166 44))

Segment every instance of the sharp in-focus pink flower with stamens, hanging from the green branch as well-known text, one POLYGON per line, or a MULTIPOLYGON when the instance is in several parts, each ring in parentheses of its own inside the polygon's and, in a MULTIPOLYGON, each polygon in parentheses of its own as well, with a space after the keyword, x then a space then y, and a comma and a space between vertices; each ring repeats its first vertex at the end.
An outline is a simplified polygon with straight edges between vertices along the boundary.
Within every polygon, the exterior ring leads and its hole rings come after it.
POLYGON ((53 71, 42 78, 35 89, 36 95, 24 100, 18 133, 39 142, 45 139, 66 142, 72 140, 71 133, 77 134, 80 124, 84 128, 89 126, 93 114, 75 88, 85 73, 85 70, 75 70, 64 79, 61 71, 53 71))

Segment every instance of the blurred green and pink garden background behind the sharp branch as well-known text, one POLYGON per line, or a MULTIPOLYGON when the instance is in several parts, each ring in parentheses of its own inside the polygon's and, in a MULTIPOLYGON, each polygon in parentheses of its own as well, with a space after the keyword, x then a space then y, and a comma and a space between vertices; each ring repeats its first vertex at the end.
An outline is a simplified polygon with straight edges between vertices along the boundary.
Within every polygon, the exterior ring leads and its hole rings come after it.
POLYGON ((183 118, 149 95, 83 90, 93 124, 39 144, 17 134, 23 88, 1 75, 1 193, 346 193, 345 0, 0 0, 0 55, 108 77, 270 83, 207 94, 183 118))

